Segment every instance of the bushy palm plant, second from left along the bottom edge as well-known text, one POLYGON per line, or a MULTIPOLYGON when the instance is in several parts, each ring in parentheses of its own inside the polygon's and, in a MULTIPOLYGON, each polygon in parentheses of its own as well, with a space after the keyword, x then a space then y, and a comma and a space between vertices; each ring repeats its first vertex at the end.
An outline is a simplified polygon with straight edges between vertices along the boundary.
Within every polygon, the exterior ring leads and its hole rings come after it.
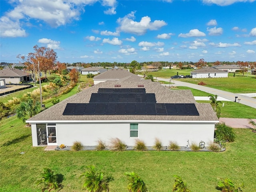
POLYGON ((111 175, 106 175, 104 172, 97 172, 95 166, 88 166, 88 171, 83 173, 81 177, 85 177, 84 188, 88 192, 103 192, 109 191, 109 182, 114 178, 111 175))

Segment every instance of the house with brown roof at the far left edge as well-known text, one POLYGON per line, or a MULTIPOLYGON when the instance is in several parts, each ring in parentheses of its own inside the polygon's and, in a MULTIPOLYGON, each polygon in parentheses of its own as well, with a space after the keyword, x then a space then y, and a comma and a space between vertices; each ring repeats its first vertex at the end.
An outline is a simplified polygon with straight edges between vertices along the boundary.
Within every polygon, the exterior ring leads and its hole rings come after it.
POLYGON ((16 68, 6 68, 0 70, 0 78, 5 79, 6 83, 20 83, 27 82, 32 79, 32 74, 16 68))

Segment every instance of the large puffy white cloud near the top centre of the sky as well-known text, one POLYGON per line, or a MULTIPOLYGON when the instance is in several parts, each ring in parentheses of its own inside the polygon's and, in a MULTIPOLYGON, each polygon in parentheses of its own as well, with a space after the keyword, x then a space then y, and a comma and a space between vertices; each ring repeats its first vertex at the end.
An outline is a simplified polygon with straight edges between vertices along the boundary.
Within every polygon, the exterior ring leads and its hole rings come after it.
POLYGON ((158 30, 162 26, 167 25, 163 20, 155 20, 154 22, 151 22, 149 16, 142 17, 140 22, 134 21, 134 13, 135 12, 131 12, 123 18, 118 18, 117 23, 120 26, 117 28, 117 31, 143 35, 147 30, 158 30))

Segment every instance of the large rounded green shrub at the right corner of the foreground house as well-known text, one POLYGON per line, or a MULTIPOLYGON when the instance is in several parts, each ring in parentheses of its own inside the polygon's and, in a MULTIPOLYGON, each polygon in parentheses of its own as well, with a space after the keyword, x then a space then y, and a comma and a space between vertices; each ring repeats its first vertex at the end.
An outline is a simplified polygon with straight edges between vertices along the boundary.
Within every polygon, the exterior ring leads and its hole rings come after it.
POLYGON ((215 137, 221 141, 234 142, 235 133, 230 126, 227 126, 225 123, 218 123, 215 125, 215 137))

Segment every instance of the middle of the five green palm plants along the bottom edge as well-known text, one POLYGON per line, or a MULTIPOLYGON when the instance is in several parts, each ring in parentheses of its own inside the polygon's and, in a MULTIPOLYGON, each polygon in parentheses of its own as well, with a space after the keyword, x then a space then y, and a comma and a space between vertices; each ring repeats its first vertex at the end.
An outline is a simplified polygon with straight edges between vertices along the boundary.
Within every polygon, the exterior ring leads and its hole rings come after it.
POLYGON ((126 172, 124 175, 128 177, 129 192, 147 192, 148 191, 146 184, 144 183, 142 178, 138 176, 138 174, 134 172, 126 172))

